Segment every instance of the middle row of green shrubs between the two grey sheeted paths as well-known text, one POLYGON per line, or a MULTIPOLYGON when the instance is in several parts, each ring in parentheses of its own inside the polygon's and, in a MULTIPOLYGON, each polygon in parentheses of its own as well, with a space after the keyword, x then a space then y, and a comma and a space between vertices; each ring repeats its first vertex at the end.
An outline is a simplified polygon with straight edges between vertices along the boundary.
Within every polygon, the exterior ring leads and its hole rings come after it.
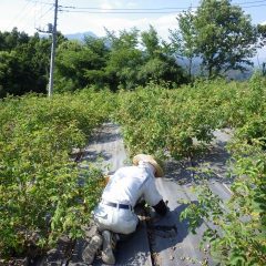
POLYGON ((198 145, 208 143, 213 130, 225 123, 218 112, 223 99, 216 95, 225 85, 198 83, 168 90, 151 83, 135 92, 121 93, 116 119, 123 125, 129 150, 170 152, 176 158, 190 156, 196 150, 193 140, 198 145), (214 88, 218 88, 216 94, 214 88))

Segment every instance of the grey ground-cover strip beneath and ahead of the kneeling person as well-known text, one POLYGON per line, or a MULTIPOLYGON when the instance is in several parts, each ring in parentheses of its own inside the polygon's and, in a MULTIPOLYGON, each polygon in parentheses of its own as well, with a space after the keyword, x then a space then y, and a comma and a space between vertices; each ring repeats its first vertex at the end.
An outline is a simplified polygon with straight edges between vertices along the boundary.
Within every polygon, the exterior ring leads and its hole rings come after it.
MULTIPOLYGON (((95 132, 90 145, 84 151, 82 163, 86 162, 96 163, 106 174, 113 173, 119 167, 129 164, 117 125, 105 123, 95 132)), ((70 259, 69 266, 83 265, 82 260, 79 260, 79 257, 81 257, 79 253, 81 253, 82 248, 82 243, 79 243, 79 246, 75 248, 78 249, 78 256, 70 259)), ((102 265, 101 258, 96 257, 93 265, 102 265)), ((141 222, 141 226, 132 238, 119 244, 115 265, 152 265, 147 229, 144 221, 141 222)))

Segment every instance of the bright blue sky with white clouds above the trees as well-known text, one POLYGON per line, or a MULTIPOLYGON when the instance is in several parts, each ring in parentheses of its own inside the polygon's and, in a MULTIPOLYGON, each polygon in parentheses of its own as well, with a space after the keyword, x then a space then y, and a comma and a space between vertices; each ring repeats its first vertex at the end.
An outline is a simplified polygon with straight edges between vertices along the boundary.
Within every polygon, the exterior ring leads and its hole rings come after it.
MULTIPOLYGON (((35 28, 45 30, 53 22, 50 3, 54 0, 1 0, 0 31, 11 31, 13 27, 29 34, 35 28)), ((232 3, 250 14, 254 24, 266 23, 266 0, 233 0, 232 3)), ((117 32, 133 27, 146 30, 152 24, 166 40, 168 29, 177 27, 176 14, 197 7, 200 0, 59 0, 59 4, 64 7, 58 19, 58 30, 63 34, 92 31, 101 37, 105 34, 104 27, 117 32), (129 13, 126 9, 139 13, 129 13)))

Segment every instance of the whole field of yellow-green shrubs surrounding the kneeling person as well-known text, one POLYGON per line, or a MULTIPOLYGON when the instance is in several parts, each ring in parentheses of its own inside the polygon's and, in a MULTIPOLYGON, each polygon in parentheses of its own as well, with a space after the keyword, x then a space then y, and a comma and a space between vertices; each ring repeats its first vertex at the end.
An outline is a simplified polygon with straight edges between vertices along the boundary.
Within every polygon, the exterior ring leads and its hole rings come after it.
MULTIPOLYGON (((198 205, 183 217, 218 226, 204 239, 223 265, 266 264, 266 81, 197 81, 167 89, 150 83, 134 91, 90 89, 52 99, 29 94, 0 102, 0 258, 48 249, 60 235, 82 235, 102 191, 102 173, 81 170, 71 156, 105 121, 122 126, 129 153, 192 157, 216 129, 234 129, 233 196, 219 207, 204 181, 198 205), (194 140, 196 140, 197 144, 194 140), (82 178, 83 182, 80 182, 82 178), (82 184, 82 185, 81 185, 82 184), (195 212, 196 209, 196 212, 195 212), (248 217, 243 219, 243 217, 248 217)), ((194 226, 194 227, 193 227, 194 226)))

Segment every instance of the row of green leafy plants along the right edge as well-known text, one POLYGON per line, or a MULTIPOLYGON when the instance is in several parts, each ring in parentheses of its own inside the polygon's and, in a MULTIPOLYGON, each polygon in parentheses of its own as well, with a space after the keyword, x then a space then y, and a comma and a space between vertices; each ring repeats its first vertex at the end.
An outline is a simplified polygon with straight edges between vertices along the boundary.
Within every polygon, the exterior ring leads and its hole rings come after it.
POLYGON ((198 204, 191 204, 182 218, 190 219, 192 231, 202 218, 215 225, 204 233, 202 244, 208 244, 222 265, 262 266, 266 264, 265 79, 253 76, 241 100, 241 108, 233 110, 235 133, 227 145, 232 154, 228 175, 234 177, 232 197, 221 204, 201 174, 201 185, 195 187, 198 204))

